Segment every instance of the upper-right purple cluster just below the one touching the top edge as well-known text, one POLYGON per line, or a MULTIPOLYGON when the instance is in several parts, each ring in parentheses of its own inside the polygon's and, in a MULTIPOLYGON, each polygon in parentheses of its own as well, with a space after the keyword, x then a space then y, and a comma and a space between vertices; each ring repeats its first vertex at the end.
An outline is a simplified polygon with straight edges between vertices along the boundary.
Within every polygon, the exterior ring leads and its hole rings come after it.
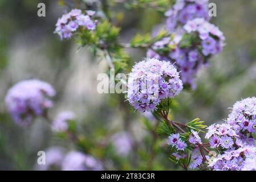
POLYGON ((180 71, 182 82, 196 88, 198 70, 208 64, 210 56, 222 51, 225 37, 218 27, 202 18, 189 20, 184 26, 186 34, 173 34, 153 44, 147 57, 170 61, 180 71), (194 36, 189 46, 183 47, 182 37, 194 36))

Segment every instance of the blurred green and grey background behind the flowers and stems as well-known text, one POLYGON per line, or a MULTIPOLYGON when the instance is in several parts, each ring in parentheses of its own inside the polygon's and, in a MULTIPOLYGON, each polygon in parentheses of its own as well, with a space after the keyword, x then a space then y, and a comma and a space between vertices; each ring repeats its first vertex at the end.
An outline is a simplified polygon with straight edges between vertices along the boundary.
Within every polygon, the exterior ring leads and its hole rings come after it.
MULTIPOLYGON (((256 1, 210 2, 217 4, 217 17, 212 23, 224 32, 226 46, 210 60, 208 68, 198 73, 197 89, 177 97, 173 110, 177 121, 199 117, 207 125, 222 122, 235 101, 256 96, 256 1)), ((0 169, 34 169, 39 150, 50 146, 75 148, 71 141, 55 137, 44 119, 38 118, 23 128, 7 114, 7 90, 28 78, 54 86, 57 94, 51 117, 63 110, 73 111, 78 116, 80 132, 88 140, 104 140, 120 131, 131 135, 133 148, 127 156, 114 155, 113 150, 104 154, 97 148, 93 150, 98 158, 107 161, 108 169, 145 169, 152 138, 141 122, 150 116, 133 113, 123 94, 96 92, 97 74, 107 69, 105 61, 93 57, 86 48, 78 49, 74 40, 60 41, 53 33, 56 20, 67 10, 70 9, 59 6, 57 0, 0 1, 0 169), (37 16, 39 2, 46 4, 46 17, 37 16)), ((152 32, 164 22, 154 9, 126 10, 118 5, 115 11, 123 42, 136 32, 152 32)), ((129 65, 145 57, 143 50, 127 51, 132 58, 129 65)), ((153 169, 178 169, 166 160, 168 147, 160 150, 164 152, 157 151, 153 169)))

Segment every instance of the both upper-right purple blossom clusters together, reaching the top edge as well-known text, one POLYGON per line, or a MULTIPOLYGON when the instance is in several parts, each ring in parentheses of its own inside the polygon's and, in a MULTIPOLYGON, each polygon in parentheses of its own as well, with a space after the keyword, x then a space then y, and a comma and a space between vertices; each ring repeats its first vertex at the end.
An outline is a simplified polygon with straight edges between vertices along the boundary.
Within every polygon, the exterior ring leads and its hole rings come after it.
POLYGON ((166 11, 165 29, 172 38, 164 38, 148 49, 150 58, 171 61, 181 72, 181 79, 190 88, 196 88, 195 77, 211 56, 222 51, 224 35, 209 23, 208 0, 177 0, 166 11), (189 42, 185 44, 184 42, 189 42))

